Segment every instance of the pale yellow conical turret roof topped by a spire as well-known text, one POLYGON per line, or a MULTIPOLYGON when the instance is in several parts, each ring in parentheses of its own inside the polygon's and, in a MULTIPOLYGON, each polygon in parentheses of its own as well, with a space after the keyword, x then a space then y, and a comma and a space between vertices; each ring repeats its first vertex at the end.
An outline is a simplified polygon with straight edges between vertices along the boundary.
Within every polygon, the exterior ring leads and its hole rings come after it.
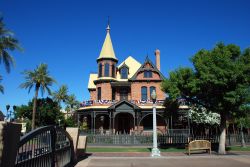
POLYGON ((100 60, 100 59, 114 59, 114 60, 118 61, 118 59, 115 56, 114 49, 113 49, 113 45, 112 45, 112 41, 111 41, 111 37, 110 37, 110 27, 109 27, 109 25, 106 28, 106 30, 107 30, 106 38, 104 40, 104 43, 102 45, 101 53, 100 53, 99 57, 97 58, 97 60, 100 60))

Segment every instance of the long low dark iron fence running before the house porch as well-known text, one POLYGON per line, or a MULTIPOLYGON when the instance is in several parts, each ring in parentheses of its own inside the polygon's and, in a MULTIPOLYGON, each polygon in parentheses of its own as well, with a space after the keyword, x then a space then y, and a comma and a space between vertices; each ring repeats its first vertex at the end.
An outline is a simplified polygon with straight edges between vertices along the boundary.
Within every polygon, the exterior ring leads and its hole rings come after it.
MULTIPOLYGON (((86 134, 85 134, 86 135, 86 134)), ((119 145, 119 146, 151 146, 153 136, 151 134, 88 134, 88 145, 119 145)), ((165 145, 185 145, 192 140, 208 140, 213 144, 219 143, 219 136, 195 136, 188 134, 163 134, 158 135, 158 144, 165 145)), ((250 135, 244 135, 247 145, 250 145, 250 135)), ((240 145, 242 142, 239 134, 227 135, 226 145, 240 145)))

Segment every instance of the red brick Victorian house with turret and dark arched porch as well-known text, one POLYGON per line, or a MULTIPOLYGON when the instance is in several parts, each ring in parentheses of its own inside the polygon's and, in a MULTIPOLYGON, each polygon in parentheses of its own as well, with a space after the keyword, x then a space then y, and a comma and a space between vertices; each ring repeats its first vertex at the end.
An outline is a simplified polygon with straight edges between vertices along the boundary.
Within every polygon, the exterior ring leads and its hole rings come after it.
MULTIPOLYGON (((79 123, 101 133, 133 133, 152 131, 152 105, 150 94, 156 91, 157 129, 164 133, 165 93, 161 90, 164 80, 160 72, 160 51, 155 51, 154 64, 148 57, 140 63, 132 56, 118 64, 110 27, 99 57, 97 74, 90 74, 88 90, 90 100, 78 110, 79 123)), ((86 128, 86 127, 85 127, 86 128)))

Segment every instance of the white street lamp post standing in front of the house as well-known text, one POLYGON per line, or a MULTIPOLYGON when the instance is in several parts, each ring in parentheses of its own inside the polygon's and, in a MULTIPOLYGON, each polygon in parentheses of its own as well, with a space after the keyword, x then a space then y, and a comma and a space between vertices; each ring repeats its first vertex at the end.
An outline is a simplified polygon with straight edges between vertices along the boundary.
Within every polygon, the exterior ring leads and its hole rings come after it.
POLYGON ((160 157, 161 156, 161 152, 160 150, 157 148, 157 129, 156 129, 156 92, 155 90, 153 90, 153 92, 151 93, 151 98, 153 100, 153 149, 151 152, 151 156, 152 157, 160 157))

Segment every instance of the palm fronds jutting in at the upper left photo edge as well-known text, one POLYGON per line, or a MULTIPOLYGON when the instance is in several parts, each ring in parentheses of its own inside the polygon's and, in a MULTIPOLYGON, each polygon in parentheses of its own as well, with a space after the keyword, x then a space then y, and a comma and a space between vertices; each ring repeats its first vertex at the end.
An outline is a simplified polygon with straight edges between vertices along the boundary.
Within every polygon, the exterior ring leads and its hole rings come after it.
POLYGON ((14 65, 14 59, 9 51, 22 50, 18 44, 18 40, 13 37, 13 33, 5 29, 3 18, 0 18, 0 63, 3 62, 7 72, 14 65))

